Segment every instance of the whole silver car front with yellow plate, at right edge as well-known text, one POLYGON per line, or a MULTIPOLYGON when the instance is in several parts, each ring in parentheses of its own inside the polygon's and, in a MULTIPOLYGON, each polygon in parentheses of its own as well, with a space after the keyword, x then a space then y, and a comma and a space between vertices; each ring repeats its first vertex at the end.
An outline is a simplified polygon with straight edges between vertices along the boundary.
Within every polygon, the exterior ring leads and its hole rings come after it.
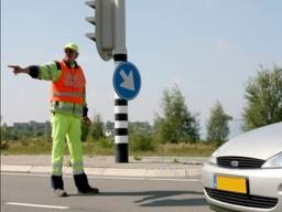
POLYGON ((205 162, 203 183, 215 211, 282 212, 282 123, 224 144, 205 162))

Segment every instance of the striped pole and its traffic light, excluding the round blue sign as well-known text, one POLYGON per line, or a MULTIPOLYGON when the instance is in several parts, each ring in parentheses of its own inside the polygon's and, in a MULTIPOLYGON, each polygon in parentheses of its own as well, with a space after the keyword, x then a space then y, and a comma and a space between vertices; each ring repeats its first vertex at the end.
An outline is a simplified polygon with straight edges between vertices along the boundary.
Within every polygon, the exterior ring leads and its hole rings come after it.
MULTIPOLYGON (((86 36, 96 42, 104 61, 113 57, 116 67, 127 62, 126 0, 90 0, 86 4, 95 9, 95 17, 86 21, 96 25, 95 33, 86 36)), ((116 162, 128 162, 128 100, 115 92, 115 152, 116 162)))

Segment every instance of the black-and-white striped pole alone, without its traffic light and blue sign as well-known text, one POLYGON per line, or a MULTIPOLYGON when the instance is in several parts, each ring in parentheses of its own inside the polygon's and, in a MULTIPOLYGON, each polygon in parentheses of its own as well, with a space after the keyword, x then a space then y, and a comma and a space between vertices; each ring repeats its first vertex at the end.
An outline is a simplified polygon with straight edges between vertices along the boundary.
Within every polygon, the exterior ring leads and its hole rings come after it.
MULTIPOLYGON (((126 2, 115 0, 115 52, 113 61, 118 66, 128 61, 126 47, 126 2)), ((128 100, 115 92, 115 156, 116 162, 128 162, 128 100)))

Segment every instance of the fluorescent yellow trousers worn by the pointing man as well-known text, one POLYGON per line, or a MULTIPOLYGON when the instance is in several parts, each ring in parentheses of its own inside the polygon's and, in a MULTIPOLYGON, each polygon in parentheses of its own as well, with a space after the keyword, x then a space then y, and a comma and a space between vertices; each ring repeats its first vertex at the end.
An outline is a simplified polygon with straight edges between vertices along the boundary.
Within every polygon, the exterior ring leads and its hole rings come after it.
POLYGON ((70 153, 70 162, 73 173, 84 173, 83 167, 83 145, 80 141, 82 136, 82 119, 74 115, 65 115, 55 113, 52 115, 52 174, 63 174, 63 160, 65 140, 70 153))

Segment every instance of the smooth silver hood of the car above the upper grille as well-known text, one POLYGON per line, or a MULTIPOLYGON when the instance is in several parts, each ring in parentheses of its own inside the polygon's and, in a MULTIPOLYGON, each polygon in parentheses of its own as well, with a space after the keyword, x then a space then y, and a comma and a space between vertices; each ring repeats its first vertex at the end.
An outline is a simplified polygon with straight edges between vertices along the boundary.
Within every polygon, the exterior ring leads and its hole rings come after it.
POLYGON ((224 144, 216 153, 220 156, 238 156, 267 160, 282 151, 282 123, 268 125, 224 144))

